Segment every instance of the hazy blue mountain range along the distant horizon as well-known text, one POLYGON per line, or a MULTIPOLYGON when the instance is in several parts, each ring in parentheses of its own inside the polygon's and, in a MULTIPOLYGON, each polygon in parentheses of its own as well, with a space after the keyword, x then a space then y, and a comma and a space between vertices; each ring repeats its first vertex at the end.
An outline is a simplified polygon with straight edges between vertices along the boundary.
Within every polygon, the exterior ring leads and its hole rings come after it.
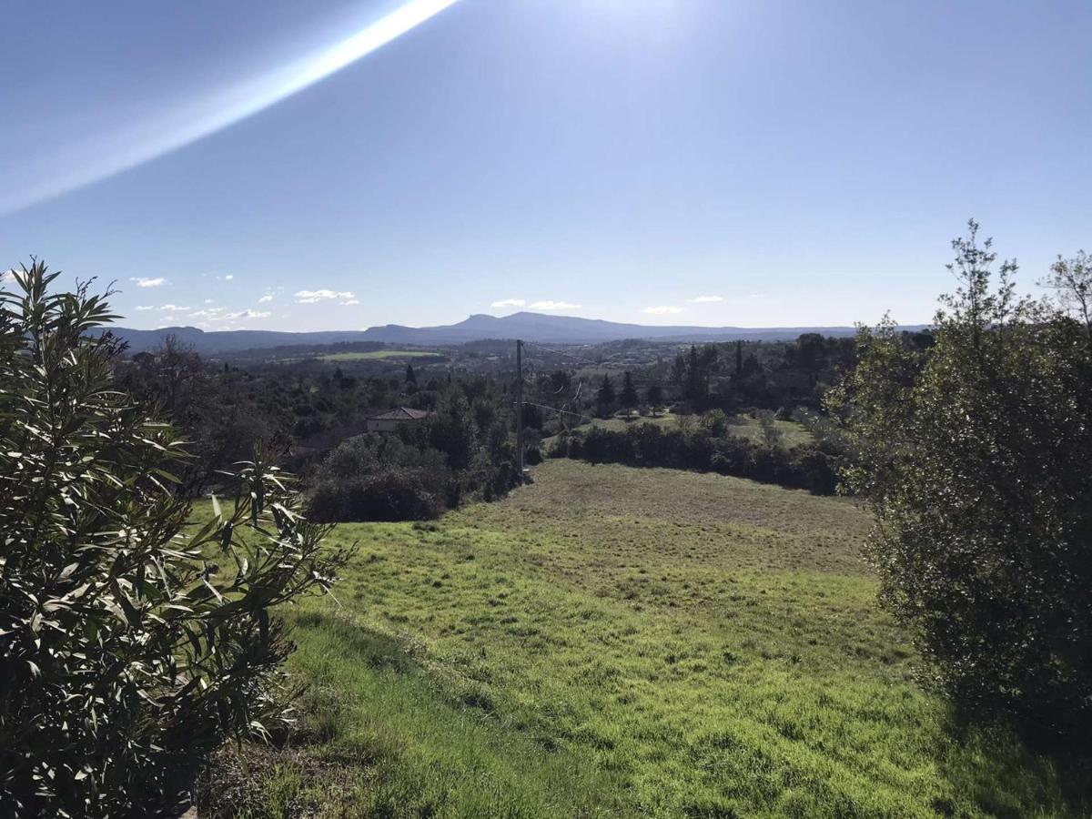
MULTIPOLYGON (((919 325, 906 330, 921 329, 919 325)), ((230 330, 204 332, 192 327, 162 328, 159 330, 130 330, 114 328, 115 334, 127 342, 131 352, 153 349, 168 335, 190 344, 199 353, 238 353, 244 349, 264 349, 300 344, 337 344, 340 342, 383 342, 387 344, 464 344, 488 339, 523 339, 546 344, 596 344, 600 342, 643 339, 665 342, 712 341, 785 341, 802 333, 822 335, 853 335, 852 327, 657 327, 621 324, 601 319, 578 319, 572 316, 546 316, 535 312, 517 312, 496 317, 483 313, 471 316, 458 324, 443 327, 403 327, 385 324, 363 331, 325 331, 318 333, 282 333, 268 330, 230 330)))

